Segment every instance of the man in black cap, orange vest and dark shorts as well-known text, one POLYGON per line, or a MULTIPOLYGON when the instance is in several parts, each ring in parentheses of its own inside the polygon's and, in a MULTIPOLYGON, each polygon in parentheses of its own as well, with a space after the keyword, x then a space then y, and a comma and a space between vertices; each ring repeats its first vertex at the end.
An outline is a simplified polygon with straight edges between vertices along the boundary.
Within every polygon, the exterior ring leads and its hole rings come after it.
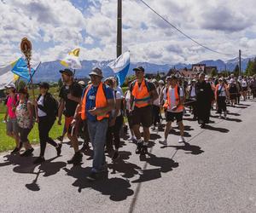
MULTIPOLYGON (((132 124, 134 134, 137 137, 136 153, 145 154, 148 152, 149 127, 152 125, 152 104, 158 95, 154 83, 144 79, 144 68, 139 66, 133 69, 136 74, 136 80, 131 83, 131 106, 135 104, 132 111, 132 124), (140 124, 143 126, 144 141, 141 139, 140 124)), ((130 109, 131 111, 131 109, 130 109)))

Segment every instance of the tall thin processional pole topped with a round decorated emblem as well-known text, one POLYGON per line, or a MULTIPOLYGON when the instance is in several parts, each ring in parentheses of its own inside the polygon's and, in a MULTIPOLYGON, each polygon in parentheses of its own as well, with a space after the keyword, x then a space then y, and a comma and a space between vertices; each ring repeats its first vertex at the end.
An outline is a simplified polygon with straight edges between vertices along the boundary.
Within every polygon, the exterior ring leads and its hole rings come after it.
MULTIPOLYGON (((26 37, 23 37, 22 40, 21 40, 20 50, 26 57, 27 68, 28 68, 28 72, 29 72, 29 75, 30 75, 30 82, 32 83, 32 96, 33 96, 33 100, 36 100, 35 91, 34 91, 34 88, 33 88, 31 63, 30 63, 31 58, 32 58, 32 43, 26 37)), ((36 118, 38 119, 38 110, 37 110, 36 106, 35 106, 35 112, 36 112, 36 118)))

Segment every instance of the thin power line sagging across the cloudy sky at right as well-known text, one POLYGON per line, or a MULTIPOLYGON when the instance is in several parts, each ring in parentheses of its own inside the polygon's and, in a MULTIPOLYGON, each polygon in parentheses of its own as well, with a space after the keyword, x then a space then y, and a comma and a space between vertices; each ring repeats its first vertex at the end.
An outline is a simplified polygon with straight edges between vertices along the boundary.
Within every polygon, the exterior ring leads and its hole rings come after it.
POLYGON ((204 49, 208 49, 209 51, 212 51, 213 53, 217 53, 217 54, 220 54, 220 55, 235 55, 235 54, 228 54, 228 53, 221 53, 221 52, 218 52, 217 50, 214 50, 214 49, 211 49, 211 48, 208 48, 207 46, 205 46, 204 44, 202 43, 199 43, 197 42, 193 37, 189 37, 189 35, 187 35, 186 33, 182 32, 180 29, 177 28, 177 26, 174 26, 169 20, 166 20, 166 18, 164 18, 162 15, 160 15, 158 12, 156 12, 154 9, 152 9, 148 3, 145 3, 143 0, 139 0, 141 1, 143 4, 145 4, 148 9, 151 9, 154 14, 157 14, 160 19, 164 20, 169 26, 172 26, 172 28, 174 28, 175 30, 177 30, 177 32, 180 32, 184 37, 187 37, 189 38, 192 42, 196 43, 197 45, 201 46, 202 48, 204 49))

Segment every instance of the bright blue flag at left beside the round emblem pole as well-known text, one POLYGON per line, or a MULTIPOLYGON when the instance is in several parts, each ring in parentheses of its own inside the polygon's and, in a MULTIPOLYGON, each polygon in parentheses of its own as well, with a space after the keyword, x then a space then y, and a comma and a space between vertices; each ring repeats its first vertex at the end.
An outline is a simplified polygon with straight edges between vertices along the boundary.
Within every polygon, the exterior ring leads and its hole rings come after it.
MULTIPOLYGON (((29 70, 26 64, 26 60, 20 58, 15 63, 15 66, 12 69, 16 75, 20 76, 21 78, 25 78, 28 82, 31 81, 31 76, 29 74, 29 70)), ((31 75, 33 76, 35 73, 35 69, 31 68, 31 75)))

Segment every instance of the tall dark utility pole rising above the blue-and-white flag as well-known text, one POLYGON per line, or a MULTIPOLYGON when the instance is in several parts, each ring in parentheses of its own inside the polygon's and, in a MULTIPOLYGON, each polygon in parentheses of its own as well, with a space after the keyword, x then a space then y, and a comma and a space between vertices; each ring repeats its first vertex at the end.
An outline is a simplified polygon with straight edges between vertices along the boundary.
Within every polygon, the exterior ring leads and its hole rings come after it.
POLYGON ((117 58, 122 55, 122 0, 118 0, 118 13, 117 13, 117 45, 116 54, 117 58))

